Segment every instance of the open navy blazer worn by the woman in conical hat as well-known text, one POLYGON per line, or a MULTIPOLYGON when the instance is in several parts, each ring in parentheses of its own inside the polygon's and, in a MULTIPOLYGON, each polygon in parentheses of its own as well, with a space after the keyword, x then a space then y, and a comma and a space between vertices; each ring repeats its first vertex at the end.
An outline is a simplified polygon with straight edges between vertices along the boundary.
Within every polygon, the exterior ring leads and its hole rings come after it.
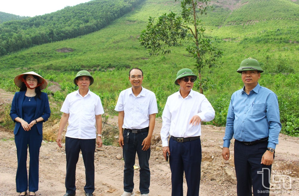
MULTIPOLYGON (((18 133, 18 130, 21 126, 21 123, 16 122, 15 118, 17 117, 23 118, 22 103, 25 97, 25 93, 26 91, 16 92, 15 95, 13 96, 13 101, 11 103, 11 109, 9 115, 16 123, 15 129, 13 131, 14 135, 18 133)), ((51 114, 51 110, 50 110, 48 95, 47 93, 42 92, 40 95, 40 99, 39 98, 36 99, 36 110, 34 114, 34 119, 39 117, 42 117, 44 119, 44 121, 37 122, 36 124, 37 130, 41 135, 42 135, 42 123, 48 120, 50 114, 51 114)))

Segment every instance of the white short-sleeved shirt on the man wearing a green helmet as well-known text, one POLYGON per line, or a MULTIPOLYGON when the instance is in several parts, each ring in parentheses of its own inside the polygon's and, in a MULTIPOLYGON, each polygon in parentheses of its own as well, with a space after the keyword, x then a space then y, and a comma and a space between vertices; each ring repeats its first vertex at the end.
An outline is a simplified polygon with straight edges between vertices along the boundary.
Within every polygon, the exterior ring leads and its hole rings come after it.
POLYGON ((79 94, 79 90, 71 92, 66 96, 60 111, 69 114, 66 137, 96 138, 95 115, 104 114, 98 95, 90 90, 84 97, 79 94))

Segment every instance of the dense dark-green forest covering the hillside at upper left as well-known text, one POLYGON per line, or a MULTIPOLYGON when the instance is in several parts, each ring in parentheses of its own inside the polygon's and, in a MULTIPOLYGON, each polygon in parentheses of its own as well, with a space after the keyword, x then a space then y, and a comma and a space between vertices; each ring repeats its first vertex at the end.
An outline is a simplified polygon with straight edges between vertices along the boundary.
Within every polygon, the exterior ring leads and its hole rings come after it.
POLYGON ((0 24, 0 56, 86 35, 129 13, 144 0, 94 0, 54 13, 0 24))

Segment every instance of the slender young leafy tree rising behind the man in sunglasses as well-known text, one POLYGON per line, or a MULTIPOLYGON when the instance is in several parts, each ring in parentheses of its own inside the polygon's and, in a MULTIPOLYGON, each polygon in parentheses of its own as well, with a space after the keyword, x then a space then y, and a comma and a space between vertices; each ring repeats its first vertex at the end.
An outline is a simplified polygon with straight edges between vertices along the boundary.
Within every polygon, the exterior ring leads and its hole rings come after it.
POLYGON ((194 58, 194 66, 198 70, 200 93, 203 93, 202 68, 206 65, 216 67, 216 59, 222 57, 222 52, 205 37, 205 27, 199 18, 212 9, 208 2, 210 0, 182 0, 181 16, 165 13, 158 17, 156 23, 154 18, 149 17, 147 29, 140 36, 140 44, 149 50, 150 56, 170 53, 171 47, 182 45, 186 38, 189 41, 186 50, 194 58))

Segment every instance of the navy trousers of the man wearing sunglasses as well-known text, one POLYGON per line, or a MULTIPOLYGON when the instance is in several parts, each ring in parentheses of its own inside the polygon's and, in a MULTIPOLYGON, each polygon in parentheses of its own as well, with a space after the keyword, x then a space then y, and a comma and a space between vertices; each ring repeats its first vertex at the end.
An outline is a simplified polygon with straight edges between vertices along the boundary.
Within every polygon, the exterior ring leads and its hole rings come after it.
POLYGON ((183 174, 187 182, 187 196, 199 195, 202 146, 200 138, 188 142, 169 139, 169 164, 172 196, 183 196, 183 174))

